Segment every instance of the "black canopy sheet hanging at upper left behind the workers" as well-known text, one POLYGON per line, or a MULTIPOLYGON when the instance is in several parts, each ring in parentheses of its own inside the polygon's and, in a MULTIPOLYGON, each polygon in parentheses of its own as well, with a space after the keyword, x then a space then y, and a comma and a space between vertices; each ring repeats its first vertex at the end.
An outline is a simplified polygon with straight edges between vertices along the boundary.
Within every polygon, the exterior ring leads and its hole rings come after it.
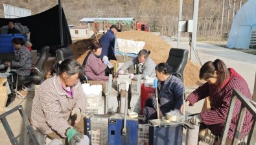
POLYGON ((6 25, 9 21, 14 21, 14 23, 21 23, 24 26, 28 26, 31 32, 30 41, 33 44, 33 49, 40 50, 41 47, 46 45, 65 47, 72 44, 67 19, 65 18, 63 9, 62 14, 59 14, 59 5, 56 5, 45 12, 31 15, 29 17, 20 17, 15 19, 0 18, 0 26, 6 25), (62 17, 60 17, 60 15, 62 15, 62 17), (60 23, 60 21, 62 21, 62 23, 60 23), (63 45, 61 33, 63 34, 63 45))

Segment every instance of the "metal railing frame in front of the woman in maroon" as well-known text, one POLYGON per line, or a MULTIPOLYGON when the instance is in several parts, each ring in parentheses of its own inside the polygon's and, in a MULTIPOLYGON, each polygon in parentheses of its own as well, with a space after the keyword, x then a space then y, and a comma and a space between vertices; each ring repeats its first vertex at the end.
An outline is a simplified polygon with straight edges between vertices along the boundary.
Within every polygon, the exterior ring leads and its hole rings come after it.
POLYGON ((234 111, 235 103, 236 103, 237 99, 239 99, 239 101, 241 101, 242 103, 241 103, 241 108, 240 108, 240 113, 239 113, 239 122, 237 122, 237 126, 235 129, 235 137, 232 141, 232 144, 238 144, 238 142, 239 142, 239 135, 240 135, 240 132, 242 131, 244 117, 246 115, 246 111, 248 110, 251 113, 251 115, 253 115, 253 124, 251 126, 251 130, 248 133, 248 140, 247 140, 246 144, 255 145, 255 142, 256 142, 256 138, 255 138, 256 137, 256 126, 255 126, 256 104, 255 104, 255 102, 244 97, 244 95, 242 95, 242 93, 240 93, 237 90, 234 90, 233 94, 232 94, 231 104, 230 104, 229 112, 227 115, 226 125, 225 125, 224 134, 223 134, 221 144, 222 145, 226 144, 227 133, 229 131, 229 126, 231 123, 231 119, 232 119, 232 115, 233 115, 233 111, 234 111))

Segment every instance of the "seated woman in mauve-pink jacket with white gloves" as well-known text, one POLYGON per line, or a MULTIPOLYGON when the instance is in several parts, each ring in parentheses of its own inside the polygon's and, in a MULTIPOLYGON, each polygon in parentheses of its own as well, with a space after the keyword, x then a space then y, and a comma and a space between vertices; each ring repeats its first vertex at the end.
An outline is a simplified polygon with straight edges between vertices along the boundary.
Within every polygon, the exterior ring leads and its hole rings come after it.
POLYGON ((89 54, 84 68, 87 77, 93 81, 108 81, 109 77, 105 75, 105 70, 108 69, 108 66, 111 67, 111 63, 106 56, 103 57, 104 61, 100 59, 102 45, 94 42, 91 43, 89 49, 91 54, 89 54))

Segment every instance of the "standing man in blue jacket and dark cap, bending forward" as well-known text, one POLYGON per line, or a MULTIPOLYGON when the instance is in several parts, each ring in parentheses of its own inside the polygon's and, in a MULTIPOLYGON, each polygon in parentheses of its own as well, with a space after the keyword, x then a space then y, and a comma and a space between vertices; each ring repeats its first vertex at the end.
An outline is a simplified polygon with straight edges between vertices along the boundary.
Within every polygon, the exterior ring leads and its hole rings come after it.
POLYGON ((102 44, 101 59, 105 55, 109 60, 117 60, 115 58, 115 35, 117 32, 121 32, 121 30, 116 25, 112 25, 110 30, 100 38, 100 44, 102 44))

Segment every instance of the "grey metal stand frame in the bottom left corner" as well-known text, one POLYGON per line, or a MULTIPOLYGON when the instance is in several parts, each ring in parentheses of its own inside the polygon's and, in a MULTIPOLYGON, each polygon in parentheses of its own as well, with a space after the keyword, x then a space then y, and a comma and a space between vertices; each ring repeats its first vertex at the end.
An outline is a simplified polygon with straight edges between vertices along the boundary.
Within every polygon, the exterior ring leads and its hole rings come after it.
POLYGON ((17 139, 14 137, 14 133, 12 133, 12 130, 11 130, 9 124, 8 124, 8 121, 6 120, 6 117, 8 115, 10 115, 11 113, 13 113, 14 111, 17 111, 17 110, 19 110, 19 113, 21 114, 21 117, 22 117, 23 121, 25 122, 27 130, 29 131, 30 138, 32 139, 32 143, 35 144, 35 145, 40 145, 38 140, 36 139, 36 136, 34 134, 34 130, 33 130, 32 126, 29 123, 29 119, 28 119, 28 117, 27 117, 27 115, 26 115, 26 113, 23 110, 23 107, 21 105, 16 106, 12 110, 6 111, 6 113, 3 113, 3 114, 0 115, 0 120, 3 124, 3 127, 5 128, 5 131, 6 131, 8 137, 10 139, 10 142, 13 145, 18 145, 19 144, 17 142, 17 139))

